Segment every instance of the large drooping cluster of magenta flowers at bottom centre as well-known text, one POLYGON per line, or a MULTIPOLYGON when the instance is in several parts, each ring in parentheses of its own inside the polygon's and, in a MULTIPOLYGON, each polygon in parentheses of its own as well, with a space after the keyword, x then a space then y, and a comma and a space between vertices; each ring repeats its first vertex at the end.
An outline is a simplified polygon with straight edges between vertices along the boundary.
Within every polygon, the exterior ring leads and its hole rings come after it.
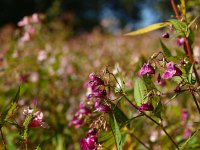
MULTIPOLYGON (((75 128, 79 128, 85 123, 85 120, 88 117, 91 118, 95 116, 95 118, 97 118, 99 116, 97 114, 100 114, 101 116, 101 114, 111 111, 111 108, 107 103, 108 94, 103 79, 94 73, 89 75, 89 79, 90 81, 87 83, 87 99, 80 103, 79 110, 69 122, 69 126, 74 125, 75 128)), ((93 120, 91 129, 87 132, 87 136, 80 141, 82 150, 97 149, 97 131, 100 130, 101 124, 104 124, 102 118, 99 117, 99 119, 93 120)))

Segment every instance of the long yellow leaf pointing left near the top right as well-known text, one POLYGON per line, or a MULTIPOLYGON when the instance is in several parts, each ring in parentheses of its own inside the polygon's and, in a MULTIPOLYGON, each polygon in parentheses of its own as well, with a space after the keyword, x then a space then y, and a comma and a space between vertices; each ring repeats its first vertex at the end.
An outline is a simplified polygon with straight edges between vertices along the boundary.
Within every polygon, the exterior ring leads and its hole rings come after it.
POLYGON ((169 26, 169 25, 170 25, 169 22, 155 23, 155 24, 149 25, 147 27, 141 28, 139 30, 127 33, 127 34, 125 34, 125 36, 140 35, 140 34, 151 32, 151 31, 154 31, 154 30, 157 30, 157 29, 169 26))

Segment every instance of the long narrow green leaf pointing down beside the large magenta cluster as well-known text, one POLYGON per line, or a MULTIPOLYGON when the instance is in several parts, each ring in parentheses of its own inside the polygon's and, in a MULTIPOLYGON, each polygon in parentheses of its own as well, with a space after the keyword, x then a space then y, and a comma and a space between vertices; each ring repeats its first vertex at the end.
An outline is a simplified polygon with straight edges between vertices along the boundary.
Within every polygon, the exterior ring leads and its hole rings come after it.
POLYGON ((111 129, 112 129, 113 136, 115 138, 117 150, 122 150, 122 136, 121 136, 121 132, 119 130, 119 126, 117 124, 115 116, 111 113, 110 113, 109 116, 110 116, 109 117, 110 126, 111 126, 111 129))

